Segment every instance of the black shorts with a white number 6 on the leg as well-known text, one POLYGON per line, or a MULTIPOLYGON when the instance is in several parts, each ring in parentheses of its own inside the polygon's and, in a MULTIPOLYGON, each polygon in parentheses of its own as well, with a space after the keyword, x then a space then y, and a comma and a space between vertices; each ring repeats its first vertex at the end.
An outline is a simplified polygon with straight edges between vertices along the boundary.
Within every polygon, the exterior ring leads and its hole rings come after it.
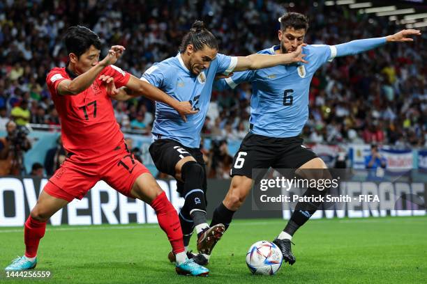
POLYGON ((274 138, 248 133, 234 155, 231 176, 252 178, 253 168, 299 168, 317 158, 299 136, 274 138))

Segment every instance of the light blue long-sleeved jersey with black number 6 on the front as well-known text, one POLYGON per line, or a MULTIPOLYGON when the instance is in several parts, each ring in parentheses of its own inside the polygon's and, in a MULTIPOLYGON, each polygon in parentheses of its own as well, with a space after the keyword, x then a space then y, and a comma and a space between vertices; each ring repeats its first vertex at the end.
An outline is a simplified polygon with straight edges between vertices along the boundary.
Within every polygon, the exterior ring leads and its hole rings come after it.
MULTIPOLYGON (((235 72, 230 78, 216 81, 215 86, 223 90, 251 82, 250 132, 276 138, 297 136, 308 119, 308 91, 316 70, 336 56, 357 54, 384 43, 385 38, 372 38, 342 45, 307 45, 302 53, 308 63, 235 72)), ((275 54, 277 49, 280 46, 258 53, 275 54)))

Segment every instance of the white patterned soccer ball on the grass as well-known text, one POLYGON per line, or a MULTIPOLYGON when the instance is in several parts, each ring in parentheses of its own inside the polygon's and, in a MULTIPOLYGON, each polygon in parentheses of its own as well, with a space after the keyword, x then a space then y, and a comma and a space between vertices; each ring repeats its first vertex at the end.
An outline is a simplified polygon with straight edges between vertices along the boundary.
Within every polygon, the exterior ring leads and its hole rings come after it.
POLYGON ((246 253, 246 265, 253 274, 273 275, 282 265, 282 260, 278 246, 269 241, 256 242, 246 253))

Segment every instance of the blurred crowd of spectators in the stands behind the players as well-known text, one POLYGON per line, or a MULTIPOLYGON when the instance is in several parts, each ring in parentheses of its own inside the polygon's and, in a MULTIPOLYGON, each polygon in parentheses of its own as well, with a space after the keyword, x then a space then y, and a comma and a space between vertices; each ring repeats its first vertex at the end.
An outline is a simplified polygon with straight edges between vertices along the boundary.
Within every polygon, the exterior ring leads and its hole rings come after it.
MULTIPOLYGON (((2 1, 0 129, 5 130, 10 119, 17 125, 59 125, 45 77, 52 67, 66 65, 61 34, 75 24, 98 33, 103 54, 111 45, 125 46, 117 65, 137 77, 153 63, 176 55, 195 19, 204 20, 217 36, 221 53, 240 56, 278 44, 278 17, 286 10, 308 15, 309 44, 334 45, 403 29, 388 17, 358 15, 346 6, 278 2, 2 1)), ((424 35, 413 43, 387 45, 324 65, 310 88, 310 118, 302 134, 306 141, 427 146, 425 47, 424 35)), ((249 128, 250 95, 249 84, 214 91, 203 134, 220 137, 218 141, 242 139, 249 128)), ((140 97, 114 104, 124 132, 149 134, 153 102, 140 97)), ((213 145, 221 149, 220 143, 213 145)))

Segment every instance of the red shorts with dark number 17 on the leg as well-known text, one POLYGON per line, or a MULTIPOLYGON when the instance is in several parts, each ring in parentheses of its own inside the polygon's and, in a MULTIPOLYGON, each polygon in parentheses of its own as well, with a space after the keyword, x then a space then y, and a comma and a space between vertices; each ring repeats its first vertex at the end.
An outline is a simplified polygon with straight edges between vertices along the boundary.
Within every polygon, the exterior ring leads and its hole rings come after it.
POLYGON ((68 200, 82 199, 96 182, 103 180, 121 194, 132 197, 133 183, 149 170, 130 155, 124 141, 109 155, 87 161, 71 155, 52 175, 43 189, 51 196, 68 200))

